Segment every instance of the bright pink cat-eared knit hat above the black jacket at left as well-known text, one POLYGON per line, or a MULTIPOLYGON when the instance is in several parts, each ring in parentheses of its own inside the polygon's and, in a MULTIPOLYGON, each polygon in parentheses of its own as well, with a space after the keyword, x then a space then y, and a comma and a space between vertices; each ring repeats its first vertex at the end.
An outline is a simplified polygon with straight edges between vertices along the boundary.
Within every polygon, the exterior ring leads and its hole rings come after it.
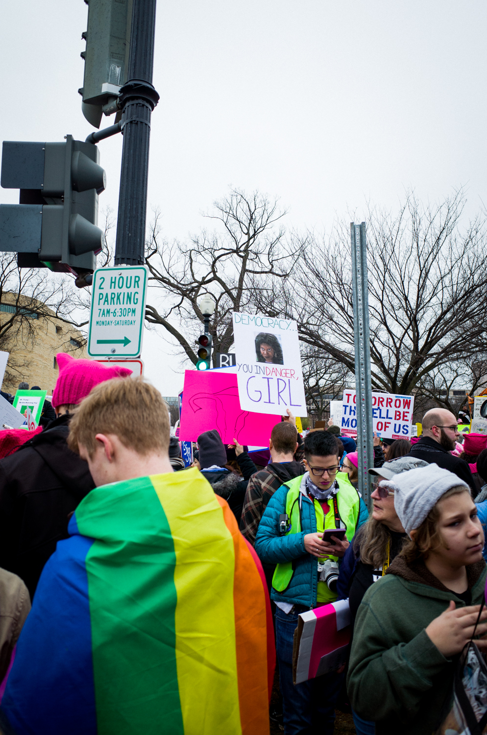
POLYGON ((132 373, 129 368, 109 368, 101 362, 76 359, 65 352, 59 352, 56 359, 59 376, 52 392, 55 409, 63 404, 79 404, 98 383, 112 378, 126 378, 132 373))

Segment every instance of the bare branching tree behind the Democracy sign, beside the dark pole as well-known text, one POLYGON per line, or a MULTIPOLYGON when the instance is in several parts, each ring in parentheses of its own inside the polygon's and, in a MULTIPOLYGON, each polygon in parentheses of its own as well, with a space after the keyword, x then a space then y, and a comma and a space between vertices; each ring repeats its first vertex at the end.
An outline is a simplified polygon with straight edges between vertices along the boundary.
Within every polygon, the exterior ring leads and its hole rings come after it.
POLYGON ((231 312, 248 309, 253 279, 281 282, 292 272, 301 245, 289 248, 281 224, 285 213, 259 192, 247 196, 231 189, 206 215, 220 231, 204 230, 183 244, 160 236, 156 212, 145 262, 149 285, 160 290, 165 309, 146 306, 145 318, 172 334, 194 364, 198 357, 192 345, 203 323, 198 302, 204 294, 216 302, 209 326, 214 351, 228 352, 234 341, 231 312))

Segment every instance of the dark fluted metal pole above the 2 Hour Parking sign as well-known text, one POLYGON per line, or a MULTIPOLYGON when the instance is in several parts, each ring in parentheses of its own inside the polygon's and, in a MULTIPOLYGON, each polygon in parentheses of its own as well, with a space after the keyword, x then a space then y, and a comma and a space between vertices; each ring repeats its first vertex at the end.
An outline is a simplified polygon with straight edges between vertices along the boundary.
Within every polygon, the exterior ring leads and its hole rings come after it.
POLYGON ((122 166, 115 265, 144 262, 151 112, 159 101, 152 86, 156 0, 134 0, 129 81, 120 89, 122 166))

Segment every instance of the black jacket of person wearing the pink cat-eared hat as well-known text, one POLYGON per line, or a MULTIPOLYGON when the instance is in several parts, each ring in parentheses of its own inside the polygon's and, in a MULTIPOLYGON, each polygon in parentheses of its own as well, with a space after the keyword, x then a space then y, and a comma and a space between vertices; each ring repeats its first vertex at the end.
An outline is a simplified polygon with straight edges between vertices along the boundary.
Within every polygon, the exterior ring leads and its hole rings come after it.
POLYGON ((0 567, 24 580, 32 599, 68 516, 95 484, 68 448, 66 415, 0 461, 0 567))

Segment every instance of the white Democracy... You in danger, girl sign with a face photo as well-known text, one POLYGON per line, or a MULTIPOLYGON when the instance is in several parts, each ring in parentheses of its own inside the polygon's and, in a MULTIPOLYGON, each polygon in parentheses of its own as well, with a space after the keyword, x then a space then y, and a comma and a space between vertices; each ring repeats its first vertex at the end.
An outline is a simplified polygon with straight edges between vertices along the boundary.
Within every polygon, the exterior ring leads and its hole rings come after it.
POLYGON ((239 312, 232 318, 241 409, 307 416, 297 323, 239 312))

